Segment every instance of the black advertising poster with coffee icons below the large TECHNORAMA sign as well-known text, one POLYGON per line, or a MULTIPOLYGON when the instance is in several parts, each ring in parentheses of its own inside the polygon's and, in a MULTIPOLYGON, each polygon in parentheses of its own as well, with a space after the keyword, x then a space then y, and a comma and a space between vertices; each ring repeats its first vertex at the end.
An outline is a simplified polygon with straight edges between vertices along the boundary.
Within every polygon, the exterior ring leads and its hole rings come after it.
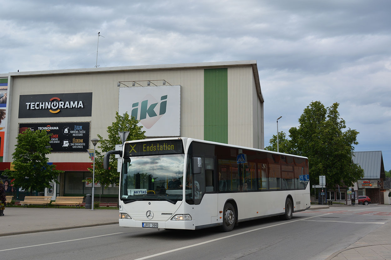
POLYGON ((90 122, 19 124, 19 133, 27 128, 44 130, 50 136, 52 152, 86 152, 90 140, 90 122))

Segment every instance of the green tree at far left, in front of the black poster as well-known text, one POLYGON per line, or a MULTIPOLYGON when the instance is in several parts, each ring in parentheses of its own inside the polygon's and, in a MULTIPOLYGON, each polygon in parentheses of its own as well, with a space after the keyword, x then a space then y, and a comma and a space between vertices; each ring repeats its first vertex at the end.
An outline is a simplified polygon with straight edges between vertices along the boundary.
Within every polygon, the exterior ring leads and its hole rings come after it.
MULTIPOLYGON (((31 131, 27 128, 16 137, 13 156, 14 171, 6 169, 4 175, 14 179, 13 184, 25 191, 43 191, 50 182, 57 182, 57 176, 63 171, 56 170, 54 164, 47 164, 50 154, 50 137, 46 131, 31 131)), ((58 182, 57 182, 58 183, 58 182)))

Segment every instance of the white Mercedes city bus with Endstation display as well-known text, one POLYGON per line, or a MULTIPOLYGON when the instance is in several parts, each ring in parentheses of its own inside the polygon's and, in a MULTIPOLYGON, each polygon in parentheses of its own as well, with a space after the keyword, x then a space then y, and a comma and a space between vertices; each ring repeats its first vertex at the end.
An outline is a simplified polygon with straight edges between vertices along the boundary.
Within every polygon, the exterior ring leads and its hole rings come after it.
POLYGON ((195 230, 310 207, 308 159, 184 137, 125 142, 119 225, 195 230))

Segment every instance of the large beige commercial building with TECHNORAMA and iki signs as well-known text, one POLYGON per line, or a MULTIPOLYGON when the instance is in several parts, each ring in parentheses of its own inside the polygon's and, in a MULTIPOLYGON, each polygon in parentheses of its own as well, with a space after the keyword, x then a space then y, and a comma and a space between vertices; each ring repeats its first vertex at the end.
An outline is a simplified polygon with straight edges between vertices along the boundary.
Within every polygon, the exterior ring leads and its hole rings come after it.
MULTIPOLYGON (((49 162, 64 171, 47 193, 90 194, 92 184, 82 182, 91 178, 90 140, 108 137, 115 112, 140 120, 150 138, 264 148, 256 61, 10 72, 0 74, 0 173, 11 168, 19 133, 46 130, 49 162)), ((96 185, 95 196, 118 198, 116 183, 96 185)))

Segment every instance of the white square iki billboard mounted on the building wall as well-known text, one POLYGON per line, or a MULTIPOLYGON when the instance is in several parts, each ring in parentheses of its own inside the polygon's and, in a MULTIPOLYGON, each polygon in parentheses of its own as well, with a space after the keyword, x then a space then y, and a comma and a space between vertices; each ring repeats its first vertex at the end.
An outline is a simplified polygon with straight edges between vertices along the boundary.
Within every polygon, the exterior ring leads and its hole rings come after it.
POLYGON ((180 85, 120 87, 118 100, 118 113, 140 120, 146 136, 180 136, 180 85))

